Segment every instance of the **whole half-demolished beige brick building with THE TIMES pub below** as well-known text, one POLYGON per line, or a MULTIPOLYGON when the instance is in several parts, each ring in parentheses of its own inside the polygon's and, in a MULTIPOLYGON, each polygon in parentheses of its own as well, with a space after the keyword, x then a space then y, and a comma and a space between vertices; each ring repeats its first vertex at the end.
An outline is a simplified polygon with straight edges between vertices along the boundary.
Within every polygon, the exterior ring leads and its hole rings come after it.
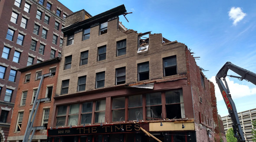
POLYGON ((161 34, 127 30, 118 18, 125 13, 121 5, 66 17, 48 140, 219 142, 214 85, 193 53, 161 34))

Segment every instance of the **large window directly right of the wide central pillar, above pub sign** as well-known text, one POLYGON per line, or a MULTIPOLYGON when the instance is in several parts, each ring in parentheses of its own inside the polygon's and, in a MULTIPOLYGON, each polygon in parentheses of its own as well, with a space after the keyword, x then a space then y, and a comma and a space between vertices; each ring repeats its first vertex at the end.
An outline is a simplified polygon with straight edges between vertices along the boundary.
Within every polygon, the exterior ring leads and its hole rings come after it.
POLYGON ((112 122, 125 120, 125 97, 113 98, 112 122))

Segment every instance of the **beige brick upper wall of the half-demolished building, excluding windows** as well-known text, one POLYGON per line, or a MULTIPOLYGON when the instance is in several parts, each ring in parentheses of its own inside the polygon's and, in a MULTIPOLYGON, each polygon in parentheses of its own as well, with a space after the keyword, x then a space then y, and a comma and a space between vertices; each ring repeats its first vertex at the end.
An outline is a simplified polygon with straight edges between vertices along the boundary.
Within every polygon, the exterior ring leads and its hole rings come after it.
POLYGON ((186 74, 185 45, 174 42, 172 44, 162 44, 161 34, 149 36, 148 51, 137 53, 138 33, 128 34, 117 29, 118 19, 108 22, 108 32, 98 35, 99 26, 91 28, 90 39, 82 41, 82 32, 76 33, 74 44, 66 46, 66 38, 63 41, 62 60, 60 63, 59 79, 56 95, 60 94, 62 80, 70 79, 69 94, 77 91, 78 74, 87 74, 85 91, 95 89, 95 73, 98 69, 105 70, 105 88, 115 86, 115 66, 126 65, 126 84, 138 82, 137 63, 140 60, 149 61, 150 80, 167 78, 163 77, 163 57, 177 56, 178 74, 186 74), (127 38, 126 38, 127 37, 127 38), (126 54, 116 57, 116 41, 126 38, 126 54), (106 45, 106 60, 97 62, 97 47, 106 45), (80 52, 89 50, 88 64, 79 66, 80 52), (63 70, 65 57, 72 55, 71 69, 63 70))

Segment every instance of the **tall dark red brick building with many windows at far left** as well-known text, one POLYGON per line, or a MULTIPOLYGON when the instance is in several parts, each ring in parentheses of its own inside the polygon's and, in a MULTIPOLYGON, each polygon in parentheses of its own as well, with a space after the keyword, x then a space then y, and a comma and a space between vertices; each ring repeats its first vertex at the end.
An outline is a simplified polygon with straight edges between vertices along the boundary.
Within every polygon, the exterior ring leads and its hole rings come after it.
POLYGON ((61 54, 61 28, 71 13, 58 0, 0 0, 1 142, 10 127, 20 80, 17 69, 61 54))

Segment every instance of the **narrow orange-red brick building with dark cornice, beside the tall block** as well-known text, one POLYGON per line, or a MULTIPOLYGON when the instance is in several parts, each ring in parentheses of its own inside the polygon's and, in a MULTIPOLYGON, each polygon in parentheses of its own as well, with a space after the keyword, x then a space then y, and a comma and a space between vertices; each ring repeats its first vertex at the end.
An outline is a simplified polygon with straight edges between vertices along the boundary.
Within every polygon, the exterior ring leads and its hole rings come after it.
MULTIPOLYGON (((36 93, 38 98, 49 98, 49 101, 39 103, 33 127, 43 126, 44 129, 36 130, 33 136, 33 142, 46 142, 48 122, 51 121, 53 112, 53 97, 56 92, 56 84, 59 71, 59 57, 36 63, 18 69, 20 71, 20 81, 13 109, 13 116, 10 125, 8 142, 20 142, 23 140, 26 132, 29 115, 36 102, 36 93), (48 77, 43 78, 43 82, 39 88, 40 79, 38 76, 52 73, 48 77)), ((30 134, 31 135, 31 134, 30 134)))

